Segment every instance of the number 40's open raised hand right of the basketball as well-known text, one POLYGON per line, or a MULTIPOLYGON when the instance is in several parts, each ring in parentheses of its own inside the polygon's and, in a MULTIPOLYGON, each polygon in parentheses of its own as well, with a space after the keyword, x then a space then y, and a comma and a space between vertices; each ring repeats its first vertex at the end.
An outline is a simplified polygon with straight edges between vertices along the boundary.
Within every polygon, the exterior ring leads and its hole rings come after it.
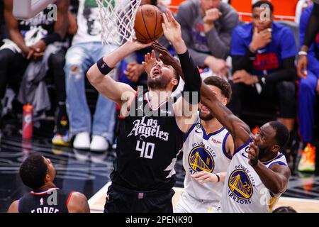
POLYGON ((173 14, 169 9, 166 10, 166 13, 163 13, 163 21, 162 27, 164 31, 164 35, 173 45, 176 42, 181 40, 181 26, 175 20, 173 14))

